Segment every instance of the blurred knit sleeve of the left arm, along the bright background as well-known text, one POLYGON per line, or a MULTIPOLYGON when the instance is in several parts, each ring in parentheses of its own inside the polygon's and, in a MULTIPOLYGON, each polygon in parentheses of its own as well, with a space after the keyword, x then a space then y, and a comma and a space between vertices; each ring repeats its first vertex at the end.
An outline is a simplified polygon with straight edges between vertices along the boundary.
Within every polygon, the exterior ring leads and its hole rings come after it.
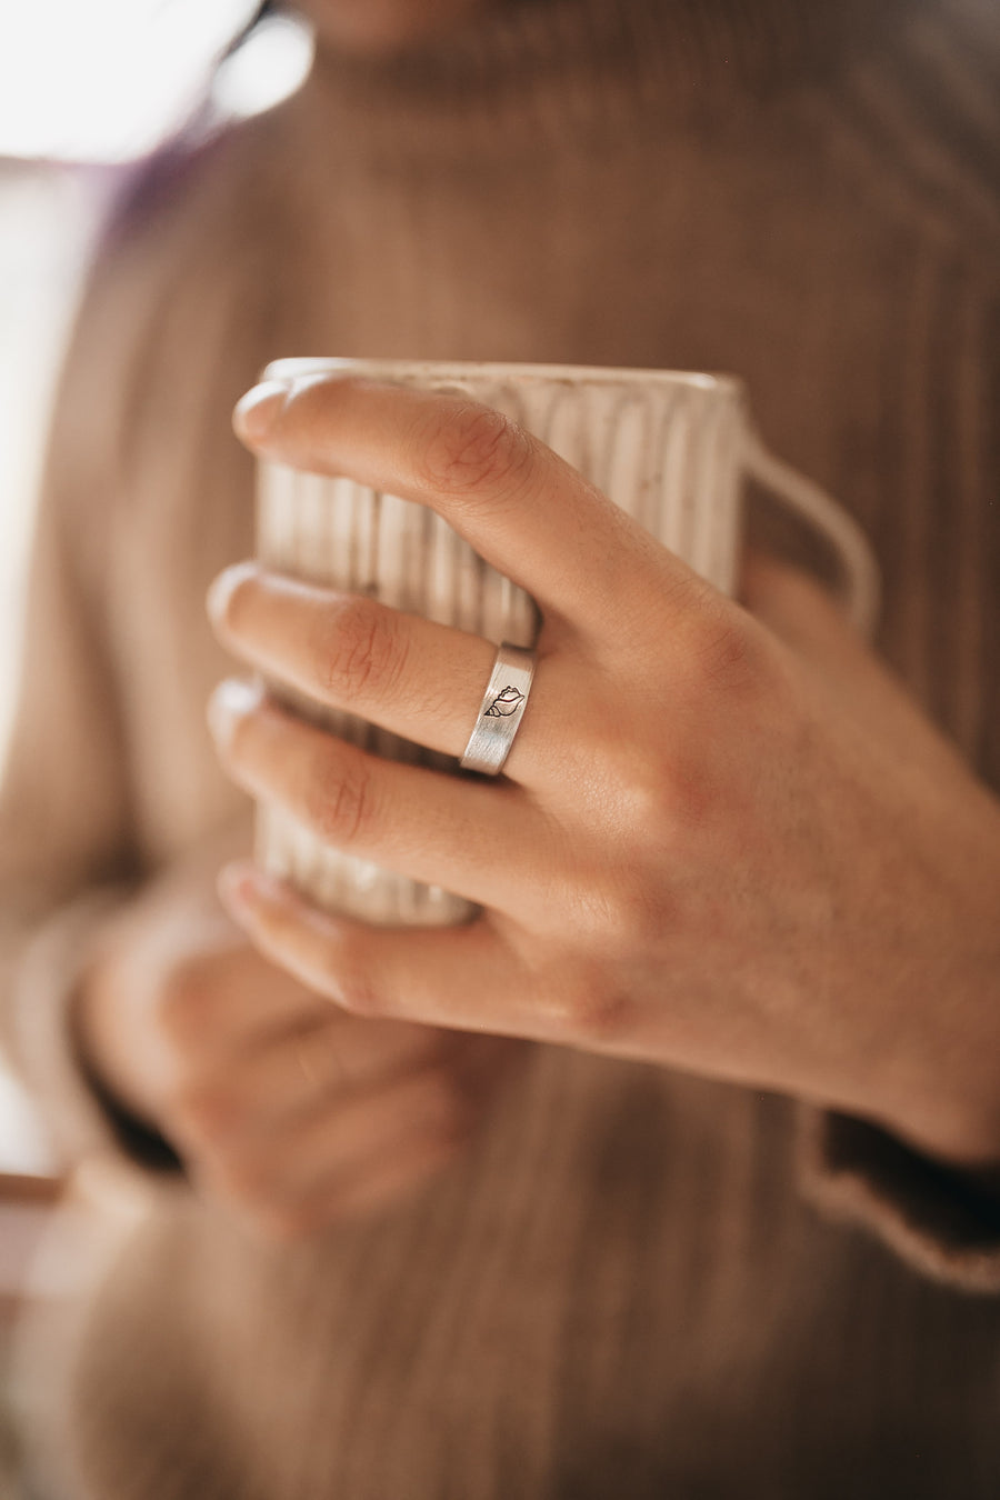
MULTIPOLYGON (((102 924, 145 878, 103 570, 133 333, 91 270, 57 384, 34 512, 13 730, 0 782, 0 1041, 63 1168, 177 1166, 76 1058, 70 1005, 102 924)), ((130 320, 129 320, 130 321, 130 320)))

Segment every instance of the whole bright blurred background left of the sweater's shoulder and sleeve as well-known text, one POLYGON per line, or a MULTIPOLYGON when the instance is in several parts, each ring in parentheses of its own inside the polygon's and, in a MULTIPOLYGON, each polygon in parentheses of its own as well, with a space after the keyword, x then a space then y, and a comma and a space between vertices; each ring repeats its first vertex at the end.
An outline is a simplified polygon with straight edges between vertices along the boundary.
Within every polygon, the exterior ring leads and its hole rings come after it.
MULTIPOLYGON (((273 108, 310 63, 306 22, 259 0, 0 0, 0 759, 54 382, 100 222, 172 135, 273 108)), ((0 1056, 0 1332, 54 1192, 0 1056)))

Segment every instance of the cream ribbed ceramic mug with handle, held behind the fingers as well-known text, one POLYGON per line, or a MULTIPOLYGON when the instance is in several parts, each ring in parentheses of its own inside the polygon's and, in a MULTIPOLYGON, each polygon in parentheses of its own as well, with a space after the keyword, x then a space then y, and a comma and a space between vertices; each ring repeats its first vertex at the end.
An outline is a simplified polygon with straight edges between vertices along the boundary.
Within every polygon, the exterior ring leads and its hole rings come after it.
MULTIPOLYGON (((832 544, 841 562, 844 608, 864 636, 874 632, 879 570, 864 532, 817 484, 765 448, 745 387, 732 375, 283 358, 268 364, 261 380, 309 381, 330 374, 462 393, 502 411, 730 596, 739 578, 744 482, 751 477, 832 544)), ((261 462, 256 552, 271 568, 370 594, 498 645, 510 640, 531 646, 540 627, 534 600, 490 567, 436 512, 351 478, 261 462)), ((364 748, 457 771, 457 758, 322 706, 286 684, 268 686, 313 723, 364 748)), ((441 886, 324 844, 288 813, 264 802, 256 808, 255 856, 316 904, 370 922, 448 924, 477 910, 441 886)))

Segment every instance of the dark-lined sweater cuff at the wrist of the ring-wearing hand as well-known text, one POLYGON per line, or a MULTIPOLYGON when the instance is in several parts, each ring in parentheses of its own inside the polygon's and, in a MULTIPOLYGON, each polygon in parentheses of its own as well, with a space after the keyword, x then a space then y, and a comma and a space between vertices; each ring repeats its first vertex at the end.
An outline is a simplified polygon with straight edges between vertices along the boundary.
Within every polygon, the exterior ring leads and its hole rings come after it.
POLYGON ((1000 1197, 867 1120, 799 1104, 799 1182, 825 1216, 873 1233, 922 1275, 1000 1293, 1000 1197))

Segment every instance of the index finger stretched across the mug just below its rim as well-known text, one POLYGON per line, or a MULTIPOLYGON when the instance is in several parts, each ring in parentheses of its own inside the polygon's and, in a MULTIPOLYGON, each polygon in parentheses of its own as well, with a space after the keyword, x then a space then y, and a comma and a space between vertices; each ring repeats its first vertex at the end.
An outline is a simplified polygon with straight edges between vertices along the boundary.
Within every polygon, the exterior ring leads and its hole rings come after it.
MULTIPOLYGON (((681 604, 697 574, 517 423, 478 402, 360 376, 255 386, 234 411, 261 456, 345 476, 436 510, 498 572, 607 639, 655 588, 681 604)), ((630 634, 631 634, 630 628, 630 634)))

